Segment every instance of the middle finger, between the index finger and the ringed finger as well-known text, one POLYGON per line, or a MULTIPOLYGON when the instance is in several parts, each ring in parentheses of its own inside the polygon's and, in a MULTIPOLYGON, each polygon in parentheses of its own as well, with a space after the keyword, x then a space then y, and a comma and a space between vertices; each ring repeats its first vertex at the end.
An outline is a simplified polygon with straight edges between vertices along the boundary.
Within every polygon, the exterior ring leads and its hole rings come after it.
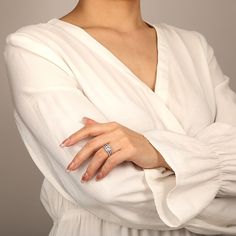
POLYGON ((95 151, 101 148, 104 143, 110 142, 113 133, 105 133, 99 135, 91 140, 89 140, 75 155, 71 163, 68 165, 67 170, 75 170, 77 169, 85 160, 87 160, 95 151))

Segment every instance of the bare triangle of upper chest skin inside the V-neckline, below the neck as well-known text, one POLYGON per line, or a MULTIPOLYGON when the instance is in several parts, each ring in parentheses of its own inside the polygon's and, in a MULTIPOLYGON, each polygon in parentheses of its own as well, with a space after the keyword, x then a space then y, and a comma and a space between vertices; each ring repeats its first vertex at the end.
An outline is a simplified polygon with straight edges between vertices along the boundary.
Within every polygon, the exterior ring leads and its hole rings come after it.
POLYGON ((154 28, 126 34, 89 29, 86 29, 86 32, 137 79, 154 91, 158 64, 157 36, 154 28))

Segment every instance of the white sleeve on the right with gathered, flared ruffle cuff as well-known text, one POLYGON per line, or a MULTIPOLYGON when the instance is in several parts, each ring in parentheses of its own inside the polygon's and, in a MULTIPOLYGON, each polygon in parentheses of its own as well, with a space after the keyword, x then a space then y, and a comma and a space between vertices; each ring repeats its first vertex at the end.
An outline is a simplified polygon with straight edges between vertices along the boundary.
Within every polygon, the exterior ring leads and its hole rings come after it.
POLYGON ((173 170, 162 176, 159 168, 145 169, 156 209, 169 226, 187 223, 216 197, 236 198, 236 93, 212 47, 202 34, 199 36, 214 90, 215 122, 194 137, 169 130, 143 132, 173 170))

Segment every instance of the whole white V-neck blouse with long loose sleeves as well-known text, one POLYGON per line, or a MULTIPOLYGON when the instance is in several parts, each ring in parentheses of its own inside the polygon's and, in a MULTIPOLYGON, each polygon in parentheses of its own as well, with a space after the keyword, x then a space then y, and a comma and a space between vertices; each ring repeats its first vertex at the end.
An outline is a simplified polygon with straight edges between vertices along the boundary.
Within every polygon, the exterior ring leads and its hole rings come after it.
MULTIPOLYGON (((151 24, 155 90, 83 28, 57 18, 6 38, 22 140, 44 175, 50 236, 236 235, 236 93, 197 31, 151 24), (61 148, 82 117, 142 133, 173 171, 124 162, 101 181, 65 169, 88 139, 61 148)), ((147 157, 148 158, 148 157, 147 157)))

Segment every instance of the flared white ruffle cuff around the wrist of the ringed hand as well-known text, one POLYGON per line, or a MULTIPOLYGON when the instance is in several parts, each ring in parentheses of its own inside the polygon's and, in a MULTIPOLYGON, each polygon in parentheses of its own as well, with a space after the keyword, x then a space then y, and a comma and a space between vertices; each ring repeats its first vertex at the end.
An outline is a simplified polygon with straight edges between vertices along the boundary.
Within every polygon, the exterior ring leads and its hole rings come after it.
POLYGON ((180 226, 200 213, 219 191, 218 155, 212 147, 186 135, 165 130, 145 131, 143 135, 173 170, 162 176, 161 168, 144 169, 157 211, 167 225, 180 226))

